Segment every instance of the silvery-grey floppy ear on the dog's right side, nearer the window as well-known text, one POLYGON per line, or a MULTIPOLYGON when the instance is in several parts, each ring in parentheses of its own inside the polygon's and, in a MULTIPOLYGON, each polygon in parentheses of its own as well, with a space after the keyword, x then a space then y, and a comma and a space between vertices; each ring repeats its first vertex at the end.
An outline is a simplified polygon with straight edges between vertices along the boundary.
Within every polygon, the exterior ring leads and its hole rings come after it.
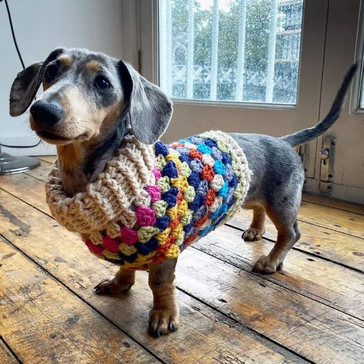
POLYGON ((142 143, 152 144, 168 127, 172 116, 172 101, 130 64, 119 61, 118 69, 124 99, 129 106, 133 134, 142 143))

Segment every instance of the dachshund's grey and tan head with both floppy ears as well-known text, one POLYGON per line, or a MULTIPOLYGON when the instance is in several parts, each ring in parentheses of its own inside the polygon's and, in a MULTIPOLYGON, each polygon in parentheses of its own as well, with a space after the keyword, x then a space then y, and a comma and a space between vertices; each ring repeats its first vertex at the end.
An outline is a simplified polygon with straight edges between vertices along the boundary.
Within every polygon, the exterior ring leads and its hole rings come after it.
POLYGON ((166 130, 172 102, 122 60, 86 49, 55 49, 21 71, 10 91, 10 115, 30 108, 30 126, 53 144, 83 142, 110 132, 129 113, 134 135, 151 144, 166 130))

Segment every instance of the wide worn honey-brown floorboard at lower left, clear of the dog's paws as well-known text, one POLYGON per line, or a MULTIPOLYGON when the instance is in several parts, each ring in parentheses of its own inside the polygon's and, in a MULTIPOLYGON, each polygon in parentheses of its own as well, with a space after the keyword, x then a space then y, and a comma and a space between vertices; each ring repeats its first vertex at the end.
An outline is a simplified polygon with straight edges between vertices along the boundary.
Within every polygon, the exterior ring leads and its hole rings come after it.
POLYGON ((1 238, 0 252, 0 334, 22 362, 158 362, 1 238))

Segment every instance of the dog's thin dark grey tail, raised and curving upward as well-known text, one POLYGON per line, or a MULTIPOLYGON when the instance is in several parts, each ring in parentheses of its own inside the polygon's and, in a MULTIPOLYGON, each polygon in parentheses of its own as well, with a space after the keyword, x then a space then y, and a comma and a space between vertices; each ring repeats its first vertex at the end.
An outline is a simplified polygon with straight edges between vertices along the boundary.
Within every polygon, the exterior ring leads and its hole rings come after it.
POLYGON ((346 73, 344 81, 342 82, 340 89, 336 94, 335 100, 331 105, 331 109, 323 120, 321 120, 312 128, 307 128, 299 132, 280 137, 280 139, 285 140, 292 146, 297 146, 315 139, 326 132, 326 130, 335 123, 341 114, 341 108, 345 100, 346 91, 348 91, 349 85, 357 68, 358 63, 354 63, 346 73))

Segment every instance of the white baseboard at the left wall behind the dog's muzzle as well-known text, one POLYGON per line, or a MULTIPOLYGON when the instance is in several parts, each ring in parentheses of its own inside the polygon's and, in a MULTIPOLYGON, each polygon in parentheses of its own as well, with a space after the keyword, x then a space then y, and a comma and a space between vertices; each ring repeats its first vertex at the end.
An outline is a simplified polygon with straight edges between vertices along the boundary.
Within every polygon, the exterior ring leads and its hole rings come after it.
MULTIPOLYGON (((0 142, 7 145, 33 145, 37 144, 37 137, 0 137, 0 142)), ((1 151, 11 155, 55 155, 57 153, 55 145, 42 141, 34 148, 7 148, 1 146, 1 151)))

